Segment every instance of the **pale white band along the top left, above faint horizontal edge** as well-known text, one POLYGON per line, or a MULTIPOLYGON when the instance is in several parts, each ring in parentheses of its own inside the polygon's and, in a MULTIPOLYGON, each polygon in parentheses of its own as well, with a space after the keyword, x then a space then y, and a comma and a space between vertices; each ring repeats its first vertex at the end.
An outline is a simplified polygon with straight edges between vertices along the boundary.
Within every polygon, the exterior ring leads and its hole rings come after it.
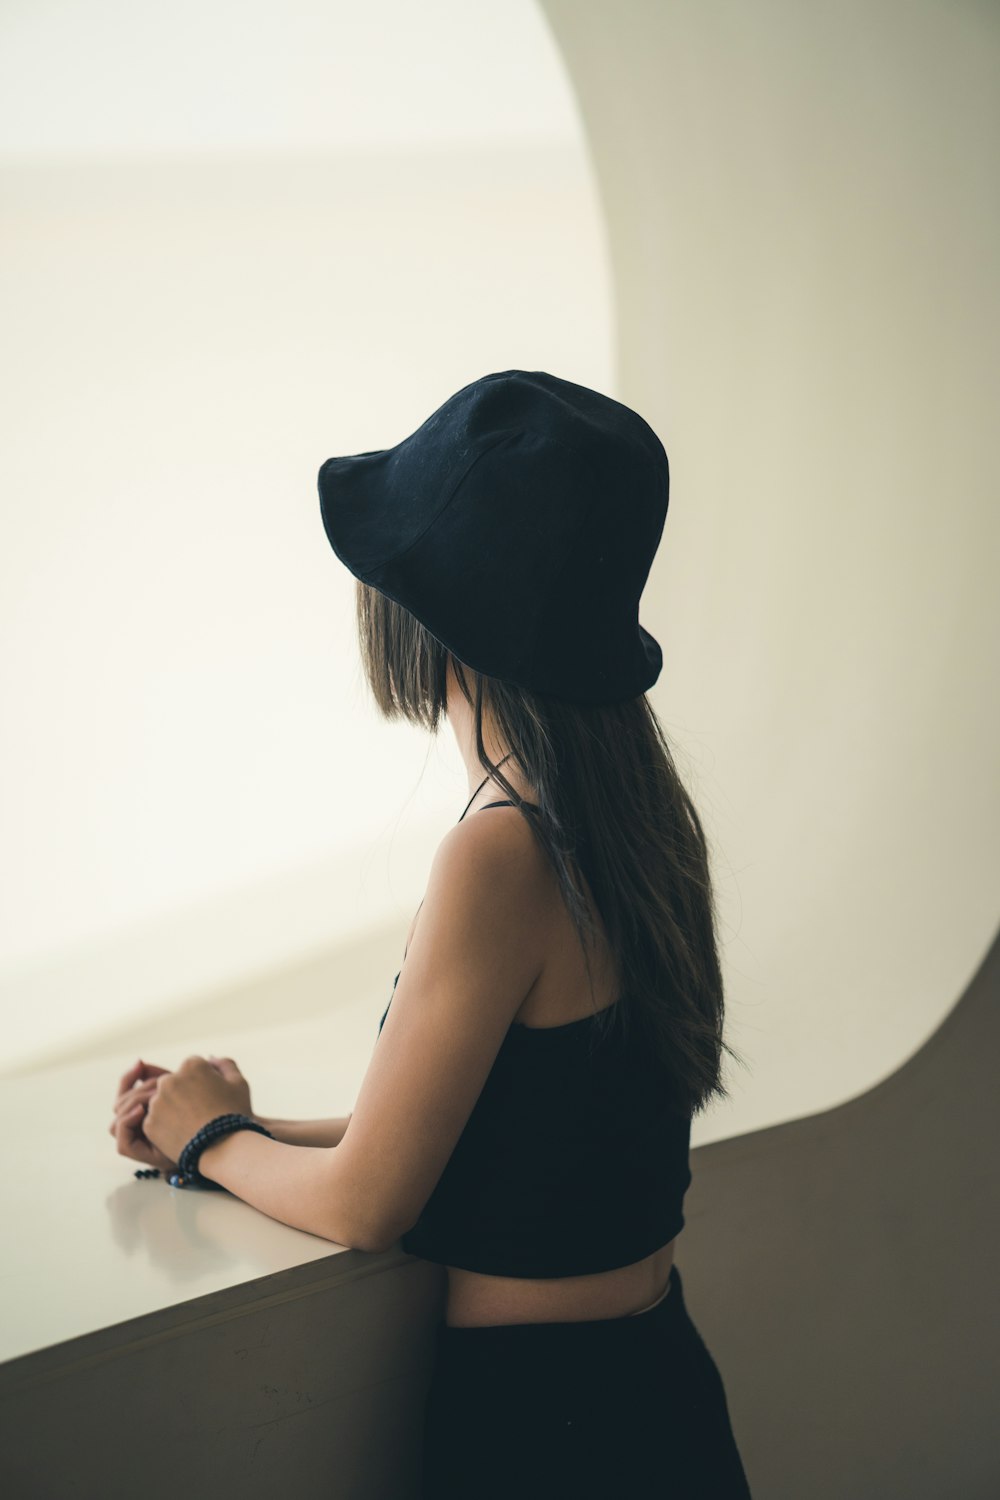
POLYGON ((4 0, 0 27, 4 154, 579 141, 523 0, 4 0))

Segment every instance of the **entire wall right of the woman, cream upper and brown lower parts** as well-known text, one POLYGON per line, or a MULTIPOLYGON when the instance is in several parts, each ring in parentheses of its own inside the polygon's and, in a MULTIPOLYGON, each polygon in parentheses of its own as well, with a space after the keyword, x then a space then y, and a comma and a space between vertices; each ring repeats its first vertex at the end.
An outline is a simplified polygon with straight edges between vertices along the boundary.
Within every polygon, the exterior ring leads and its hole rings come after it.
POLYGON ((1000 12, 541 0, 672 510, 730 1038, 678 1246, 754 1500, 993 1500, 1000 12))

